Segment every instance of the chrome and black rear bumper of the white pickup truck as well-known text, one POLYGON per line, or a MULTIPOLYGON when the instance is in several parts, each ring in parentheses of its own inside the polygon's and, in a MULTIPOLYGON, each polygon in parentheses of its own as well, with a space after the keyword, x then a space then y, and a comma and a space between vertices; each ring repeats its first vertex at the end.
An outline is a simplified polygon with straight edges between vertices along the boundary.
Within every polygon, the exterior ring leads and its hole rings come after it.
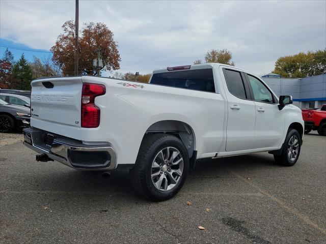
POLYGON ((117 168, 116 153, 110 145, 86 145, 58 135, 54 135, 53 142, 47 144, 44 136, 48 133, 34 128, 23 129, 23 134, 25 146, 69 167, 80 170, 117 168))

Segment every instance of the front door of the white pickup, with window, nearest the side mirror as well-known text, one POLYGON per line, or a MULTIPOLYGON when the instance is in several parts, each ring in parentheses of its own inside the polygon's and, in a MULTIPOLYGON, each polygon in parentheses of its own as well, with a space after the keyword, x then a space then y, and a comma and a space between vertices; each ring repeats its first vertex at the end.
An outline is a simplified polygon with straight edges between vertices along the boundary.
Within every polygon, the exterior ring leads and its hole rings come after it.
POLYGON ((257 77, 246 74, 256 107, 255 147, 277 147, 284 135, 284 114, 276 97, 257 77))

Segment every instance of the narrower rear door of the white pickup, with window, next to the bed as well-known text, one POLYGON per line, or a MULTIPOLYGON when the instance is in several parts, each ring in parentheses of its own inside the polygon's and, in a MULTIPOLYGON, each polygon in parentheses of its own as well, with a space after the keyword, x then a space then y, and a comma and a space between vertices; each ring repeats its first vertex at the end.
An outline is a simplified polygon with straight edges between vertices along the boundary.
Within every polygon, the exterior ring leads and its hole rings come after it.
MULTIPOLYGON (((242 72, 222 68, 228 100, 227 151, 255 148, 255 103, 250 100, 248 83, 242 72)), ((222 74, 222 73, 221 73, 222 74)))

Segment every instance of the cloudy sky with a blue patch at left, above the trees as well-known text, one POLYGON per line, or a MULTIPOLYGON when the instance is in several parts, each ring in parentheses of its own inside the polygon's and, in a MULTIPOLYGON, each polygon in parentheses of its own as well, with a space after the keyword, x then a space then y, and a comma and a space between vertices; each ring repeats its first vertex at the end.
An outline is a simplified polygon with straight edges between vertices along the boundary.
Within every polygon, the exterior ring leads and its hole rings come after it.
MULTIPOLYGON (((1 0, 0 44, 47 51, 73 19, 74 1, 1 0)), ((326 1, 79 1, 80 25, 90 21, 114 33, 122 73, 188 65, 227 48, 237 67, 265 74, 280 56, 326 48, 326 1)))

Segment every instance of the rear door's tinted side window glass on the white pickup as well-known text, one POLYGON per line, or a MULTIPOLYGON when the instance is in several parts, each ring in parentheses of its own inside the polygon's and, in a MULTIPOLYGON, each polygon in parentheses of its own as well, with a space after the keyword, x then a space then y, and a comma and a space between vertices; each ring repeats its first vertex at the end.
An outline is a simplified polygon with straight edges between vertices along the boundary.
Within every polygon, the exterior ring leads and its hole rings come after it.
POLYGON ((230 93, 237 98, 246 99, 246 92, 244 91, 243 80, 240 72, 234 70, 224 70, 226 84, 230 93))

